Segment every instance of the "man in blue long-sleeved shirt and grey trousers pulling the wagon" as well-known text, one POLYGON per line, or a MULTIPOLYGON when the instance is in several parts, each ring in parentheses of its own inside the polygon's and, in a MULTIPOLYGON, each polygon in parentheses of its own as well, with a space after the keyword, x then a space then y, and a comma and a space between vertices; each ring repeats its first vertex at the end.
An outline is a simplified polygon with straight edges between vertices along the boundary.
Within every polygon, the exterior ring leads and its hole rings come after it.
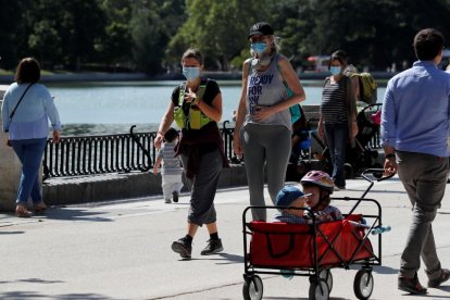
POLYGON ((426 293, 417 278, 421 258, 428 288, 450 277, 436 251, 433 222, 446 190, 449 170, 450 74, 438 70, 443 36, 434 28, 414 37, 417 61, 387 85, 382 110, 385 172, 398 172, 412 204, 412 221, 400 259, 398 288, 426 293))

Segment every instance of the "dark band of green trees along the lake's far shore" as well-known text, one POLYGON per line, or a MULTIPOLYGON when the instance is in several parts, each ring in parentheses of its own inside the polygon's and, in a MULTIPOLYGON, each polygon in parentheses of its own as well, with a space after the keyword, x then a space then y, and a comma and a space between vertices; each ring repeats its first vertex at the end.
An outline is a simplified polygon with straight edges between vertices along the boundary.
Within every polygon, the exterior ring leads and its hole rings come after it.
MULTIPOLYGON (((450 39, 450 0, 0 0, 0 67, 34 55, 46 68, 126 66, 149 74, 179 68, 189 47, 208 70, 240 68, 249 27, 270 22, 280 52, 301 66, 336 49, 358 67, 401 68, 415 60, 417 30, 450 39)), ((111 70, 111 68, 110 68, 111 70)))

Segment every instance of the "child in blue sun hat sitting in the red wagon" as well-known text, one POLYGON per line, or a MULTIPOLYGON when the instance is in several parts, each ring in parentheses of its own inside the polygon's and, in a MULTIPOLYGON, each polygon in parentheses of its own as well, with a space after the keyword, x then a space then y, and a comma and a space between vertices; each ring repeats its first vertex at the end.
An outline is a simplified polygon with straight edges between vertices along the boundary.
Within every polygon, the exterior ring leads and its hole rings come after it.
POLYGON ((305 208, 305 195, 297 187, 288 186, 278 191, 275 205, 285 207, 279 213, 274 215, 273 222, 285 222, 289 224, 307 224, 304 210, 296 208, 305 208))

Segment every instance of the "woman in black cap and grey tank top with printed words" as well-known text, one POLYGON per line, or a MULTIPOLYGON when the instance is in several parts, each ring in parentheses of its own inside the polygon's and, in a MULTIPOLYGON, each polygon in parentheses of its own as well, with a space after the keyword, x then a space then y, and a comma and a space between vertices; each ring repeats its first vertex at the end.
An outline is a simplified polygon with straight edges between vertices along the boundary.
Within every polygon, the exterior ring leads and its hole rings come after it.
MULTIPOLYGON (((289 60, 278 53, 272 26, 259 22, 248 39, 252 58, 242 66, 242 90, 234 135, 234 151, 245 158, 251 205, 264 205, 264 165, 267 189, 275 203, 285 185, 291 149, 289 108, 305 99, 289 60)), ((266 220, 264 209, 252 210, 253 220, 266 220)))

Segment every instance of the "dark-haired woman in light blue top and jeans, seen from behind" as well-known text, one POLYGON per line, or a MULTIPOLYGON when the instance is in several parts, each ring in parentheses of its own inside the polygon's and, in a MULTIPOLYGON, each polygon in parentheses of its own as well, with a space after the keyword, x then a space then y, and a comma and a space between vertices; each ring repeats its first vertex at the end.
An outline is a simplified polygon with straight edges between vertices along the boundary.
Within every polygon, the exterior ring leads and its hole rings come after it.
POLYGON ((53 142, 60 141, 61 122, 49 90, 38 84, 39 63, 32 58, 23 59, 15 73, 13 83, 4 93, 2 105, 3 132, 9 133, 9 142, 22 162, 15 215, 29 217, 28 198, 35 213, 43 212, 39 185, 39 167, 48 138, 48 120, 53 128, 53 142))

